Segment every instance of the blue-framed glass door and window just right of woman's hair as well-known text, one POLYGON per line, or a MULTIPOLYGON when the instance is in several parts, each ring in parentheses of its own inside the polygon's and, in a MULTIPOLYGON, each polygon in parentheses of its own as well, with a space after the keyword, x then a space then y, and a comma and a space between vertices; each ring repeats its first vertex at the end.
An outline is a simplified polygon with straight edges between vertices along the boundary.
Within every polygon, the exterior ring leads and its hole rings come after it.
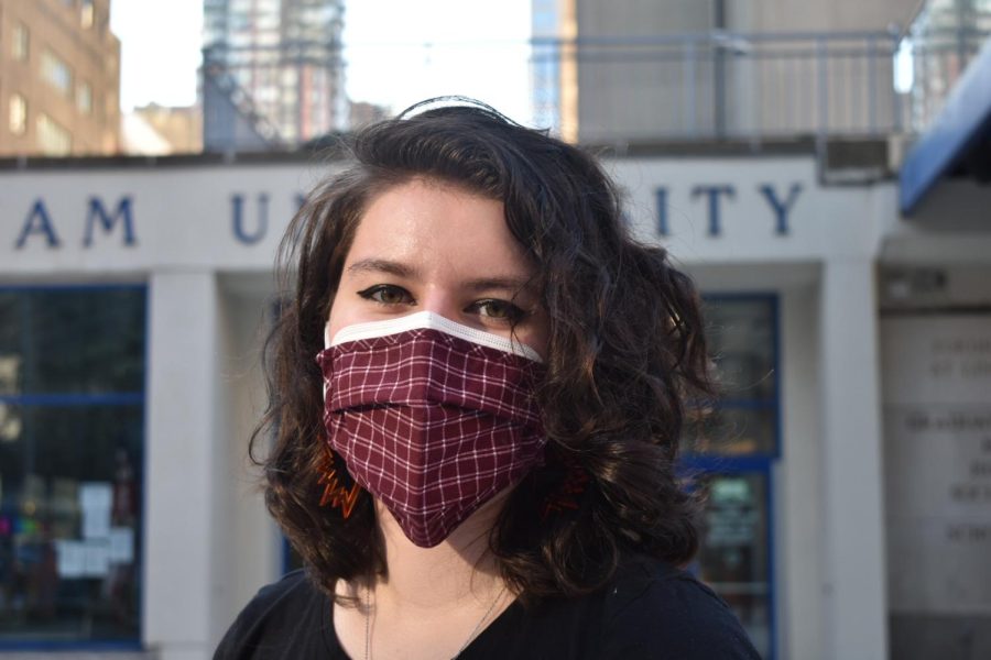
POLYGON ((761 656, 773 658, 769 493, 780 442, 777 300, 711 296, 705 312, 720 396, 689 415, 682 447, 705 502, 696 570, 761 656))

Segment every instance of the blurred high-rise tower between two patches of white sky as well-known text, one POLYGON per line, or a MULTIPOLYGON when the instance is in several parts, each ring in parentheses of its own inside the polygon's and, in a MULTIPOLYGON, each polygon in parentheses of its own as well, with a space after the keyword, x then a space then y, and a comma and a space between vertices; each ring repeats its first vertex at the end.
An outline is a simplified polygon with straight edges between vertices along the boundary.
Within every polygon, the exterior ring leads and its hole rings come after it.
POLYGON ((204 12, 207 150, 347 128, 342 0, 206 0, 204 12))

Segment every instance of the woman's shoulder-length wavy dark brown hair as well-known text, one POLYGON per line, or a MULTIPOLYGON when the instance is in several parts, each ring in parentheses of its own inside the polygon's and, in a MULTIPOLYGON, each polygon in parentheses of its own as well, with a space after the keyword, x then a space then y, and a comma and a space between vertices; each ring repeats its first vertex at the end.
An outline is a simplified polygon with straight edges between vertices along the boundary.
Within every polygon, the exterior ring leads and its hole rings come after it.
POLYGON ((314 356, 364 209, 393 186, 432 178, 503 202, 549 319, 536 393, 547 461, 514 488, 490 534, 503 579, 538 600, 601 586, 624 552, 686 563, 698 506, 676 460, 688 402, 711 393, 690 279, 662 248, 630 237, 592 156, 480 103, 413 110, 360 132, 351 166, 309 195, 283 240, 280 272, 293 294, 266 343, 269 407, 252 436, 252 455, 275 437, 260 461, 269 510, 328 593, 338 579, 385 572, 371 497, 347 519, 318 505, 328 449, 314 356), (584 488, 574 506, 548 515, 544 503, 576 471, 584 488))

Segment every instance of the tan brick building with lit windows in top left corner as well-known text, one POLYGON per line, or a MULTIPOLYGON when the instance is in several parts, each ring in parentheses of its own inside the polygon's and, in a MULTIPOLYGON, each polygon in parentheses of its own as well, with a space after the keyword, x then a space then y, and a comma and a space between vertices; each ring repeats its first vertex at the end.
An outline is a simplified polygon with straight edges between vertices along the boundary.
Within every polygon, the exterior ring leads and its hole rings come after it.
POLYGON ((110 0, 0 0, 0 156, 115 154, 110 0))

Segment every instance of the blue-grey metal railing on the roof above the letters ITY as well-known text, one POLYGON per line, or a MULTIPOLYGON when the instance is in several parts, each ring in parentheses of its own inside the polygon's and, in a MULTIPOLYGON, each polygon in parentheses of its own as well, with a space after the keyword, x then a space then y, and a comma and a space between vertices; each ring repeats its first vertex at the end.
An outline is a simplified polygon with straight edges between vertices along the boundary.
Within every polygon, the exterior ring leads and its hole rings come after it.
POLYGON ((581 142, 903 130, 896 32, 533 43, 535 117, 581 142))

